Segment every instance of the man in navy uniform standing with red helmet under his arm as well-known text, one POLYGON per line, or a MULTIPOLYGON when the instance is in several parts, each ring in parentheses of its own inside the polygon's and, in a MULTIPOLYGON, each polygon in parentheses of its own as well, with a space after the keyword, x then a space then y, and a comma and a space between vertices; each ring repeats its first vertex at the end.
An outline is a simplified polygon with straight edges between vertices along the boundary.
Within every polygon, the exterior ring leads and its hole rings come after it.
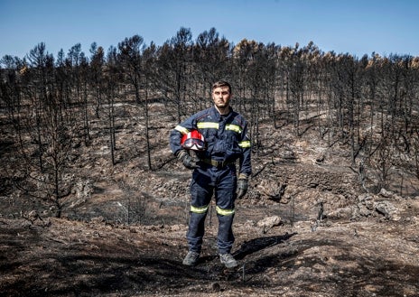
MULTIPOLYGON (((214 106, 190 116, 171 132, 172 153, 188 169, 193 169, 191 180, 191 218, 187 233, 189 252, 183 265, 196 265, 200 257, 205 218, 214 194, 219 218, 217 245, 220 262, 228 268, 236 267, 237 261, 230 254, 234 243, 232 231, 234 202, 247 193, 250 163, 250 139, 247 121, 229 106, 231 86, 218 81, 212 86, 214 106), (197 131, 203 136, 205 147, 191 156, 182 145, 185 139, 197 131), (238 176, 236 162, 238 160, 238 176)), ((191 143, 191 142, 190 142, 191 143)), ((192 143, 200 144, 193 140, 192 143)), ((195 145, 196 146, 196 145, 195 145)))

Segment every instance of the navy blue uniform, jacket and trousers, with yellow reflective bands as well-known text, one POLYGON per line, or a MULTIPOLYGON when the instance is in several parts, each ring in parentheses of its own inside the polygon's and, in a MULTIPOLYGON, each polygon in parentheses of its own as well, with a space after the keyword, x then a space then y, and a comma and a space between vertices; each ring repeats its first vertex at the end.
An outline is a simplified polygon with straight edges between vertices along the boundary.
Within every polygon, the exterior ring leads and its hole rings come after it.
POLYGON ((239 174, 248 177, 252 172, 247 122, 231 107, 225 116, 220 115, 216 107, 202 110, 172 130, 170 144, 173 154, 182 150, 182 135, 193 129, 204 136, 208 147, 205 152, 197 153, 200 168, 192 173, 191 218, 187 234, 189 248, 200 253, 205 218, 214 194, 219 218, 219 254, 230 253, 234 243, 232 224, 237 198, 237 160, 239 174))

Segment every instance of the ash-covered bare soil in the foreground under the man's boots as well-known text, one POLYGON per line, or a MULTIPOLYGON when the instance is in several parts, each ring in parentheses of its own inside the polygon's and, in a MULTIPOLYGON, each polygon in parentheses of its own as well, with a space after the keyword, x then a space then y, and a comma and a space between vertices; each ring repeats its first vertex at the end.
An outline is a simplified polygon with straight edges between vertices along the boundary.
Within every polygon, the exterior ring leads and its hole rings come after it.
POLYGON ((113 225, 47 218, 2 219, 3 296, 418 296, 418 200, 399 201, 400 219, 378 215, 255 221, 237 206, 234 255, 216 255, 208 219, 200 264, 182 265, 186 225, 113 225))

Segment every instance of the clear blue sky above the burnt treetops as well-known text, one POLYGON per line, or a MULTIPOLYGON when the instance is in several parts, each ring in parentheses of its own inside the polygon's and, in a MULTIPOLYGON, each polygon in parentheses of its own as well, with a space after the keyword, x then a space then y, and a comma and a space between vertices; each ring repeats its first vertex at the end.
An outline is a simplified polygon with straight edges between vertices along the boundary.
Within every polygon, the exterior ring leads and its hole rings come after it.
POLYGON ((214 27, 233 43, 419 56, 418 12, 417 0, 0 0, 0 59, 40 42, 55 57, 76 43, 89 56, 92 42, 107 50, 135 34, 162 45, 181 27, 193 40, 214 27))

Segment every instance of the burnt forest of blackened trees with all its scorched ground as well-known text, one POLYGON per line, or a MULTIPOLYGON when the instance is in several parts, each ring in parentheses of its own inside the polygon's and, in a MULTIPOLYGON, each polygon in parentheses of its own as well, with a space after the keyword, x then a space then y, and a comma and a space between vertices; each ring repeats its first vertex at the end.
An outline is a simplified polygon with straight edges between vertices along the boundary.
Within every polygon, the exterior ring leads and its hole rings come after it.
POLYGON ((419 296, 419 57, 234 44, 181 28, 0 58, 2 296, 419 296), (253 172, 233 255, 169 133, 232 85, 253 172))

